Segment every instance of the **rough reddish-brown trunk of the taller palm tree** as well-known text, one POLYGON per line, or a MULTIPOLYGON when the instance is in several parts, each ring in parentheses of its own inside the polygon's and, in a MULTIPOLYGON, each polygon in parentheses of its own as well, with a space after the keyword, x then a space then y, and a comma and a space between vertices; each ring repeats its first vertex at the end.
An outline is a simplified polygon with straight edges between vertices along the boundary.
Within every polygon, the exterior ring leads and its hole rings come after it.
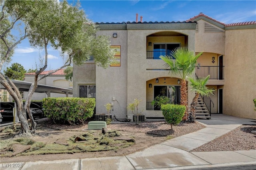
POLYGON ((182 121, 187 121, 188 120, 188 90, 187 90, 187 82, 185 79, 181 80, 180 105, 184 105, 186 107, 186 111, 182 118, 182 121))

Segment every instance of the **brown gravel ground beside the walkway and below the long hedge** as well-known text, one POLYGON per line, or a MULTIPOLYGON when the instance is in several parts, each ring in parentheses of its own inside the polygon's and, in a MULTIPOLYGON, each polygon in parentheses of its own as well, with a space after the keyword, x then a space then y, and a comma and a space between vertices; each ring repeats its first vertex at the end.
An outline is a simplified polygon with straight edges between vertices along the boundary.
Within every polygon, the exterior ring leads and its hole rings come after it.
MULTIPOLYGON (((88 125, 56 125, 50 121, 45 126, 50 128, 56 128, 60 130, 84 130, 88 128, 88 125)), ((145 122, 136 125, 134 123, 112 123, 107 125, 108 129, 112 130, 125 130, 129 132, 143 132, 151 135, 168 136, 173 137, 182 136, 184 134, 194 132, 204 128, 204 126, 198 122, 196 123, 180 123, 177 126, 173 126, 173 130, 170 130, 170 125, 164 121, 145 122)), ((233 150, 250 150, 256 149, 256 135, 251 131, 256 130, 256 125, 242 125, 211 142, 208 142, 198 148, 192 150, 193 152, 208 152, 208 151, 233 151, 233 150)))

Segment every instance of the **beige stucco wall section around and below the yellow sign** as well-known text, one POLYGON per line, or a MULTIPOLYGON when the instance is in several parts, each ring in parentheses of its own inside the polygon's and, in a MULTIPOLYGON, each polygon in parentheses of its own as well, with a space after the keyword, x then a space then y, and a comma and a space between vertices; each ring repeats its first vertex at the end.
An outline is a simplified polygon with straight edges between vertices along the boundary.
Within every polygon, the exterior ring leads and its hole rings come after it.
POLYGON ((97 36, 102 34, 110 36, 111 45, 121 45, 121 66, 107 69, 96 67, 96 114, 107 113, 104 105, 113 103, 113 111, 110 113, 113 116, 116 114, 117 119, 126 119, 127 30, 102 30, 97 33, 97 36), (117 33, 117 38, 113 38, 113 33, 117 33))

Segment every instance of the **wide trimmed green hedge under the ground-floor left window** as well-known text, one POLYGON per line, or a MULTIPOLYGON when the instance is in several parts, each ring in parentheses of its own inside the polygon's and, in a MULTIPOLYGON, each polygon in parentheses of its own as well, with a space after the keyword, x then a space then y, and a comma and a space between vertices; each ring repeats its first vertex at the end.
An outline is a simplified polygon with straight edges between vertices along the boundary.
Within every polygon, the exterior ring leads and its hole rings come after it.
POLYGON ((92 117, 96 101, 94 98, 50 97, 43 99, 44 115, 58 123, 82 123, 92 117))

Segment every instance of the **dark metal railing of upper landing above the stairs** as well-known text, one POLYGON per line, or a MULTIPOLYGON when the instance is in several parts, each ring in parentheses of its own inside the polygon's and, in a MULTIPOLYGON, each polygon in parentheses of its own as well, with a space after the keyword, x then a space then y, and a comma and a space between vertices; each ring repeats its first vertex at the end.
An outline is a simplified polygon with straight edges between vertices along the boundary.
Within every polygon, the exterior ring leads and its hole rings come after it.
POLYGON ((195 72, 198 78, 210 75, 210 79, 224 80, 224 66, 196 66, 195 72))

